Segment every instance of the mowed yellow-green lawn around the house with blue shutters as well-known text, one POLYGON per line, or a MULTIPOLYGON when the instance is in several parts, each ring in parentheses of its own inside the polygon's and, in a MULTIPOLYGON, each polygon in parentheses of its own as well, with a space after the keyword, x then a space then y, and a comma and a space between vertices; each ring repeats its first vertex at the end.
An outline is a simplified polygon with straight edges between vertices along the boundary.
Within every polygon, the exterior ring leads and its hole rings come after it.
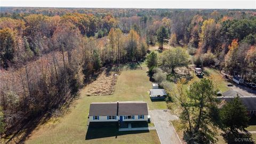
MULTIPOLYGON (((104 84, 102 84, 104 85, 104 84)), ((59 118, 59 122, 42 124, 30 134, 25 143, 160 143, 156 130, 147 132, 99 134, 99 138, 86 140, 87 116, 91 102, 146 101, 149 109, 167 109, 164 101, 151 102, 148 91, 151 87, 145 70, 122 71, 118 76, 113 95, 85 96, 81 90, 80 98, 69 108, 69 112, 59 118)), ((102 133, 113 131, 102 129, 102 133)), ((115 131, 116 132, 116 131, 115 131)))

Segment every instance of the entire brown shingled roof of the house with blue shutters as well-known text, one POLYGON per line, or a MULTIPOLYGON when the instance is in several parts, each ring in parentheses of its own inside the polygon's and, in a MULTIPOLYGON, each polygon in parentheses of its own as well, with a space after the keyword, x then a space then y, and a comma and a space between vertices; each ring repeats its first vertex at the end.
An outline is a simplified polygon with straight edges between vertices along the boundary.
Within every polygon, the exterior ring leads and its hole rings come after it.
POLYGON ((93 102, 89 116, 148 115, 147 103, 143 101, 93 102))

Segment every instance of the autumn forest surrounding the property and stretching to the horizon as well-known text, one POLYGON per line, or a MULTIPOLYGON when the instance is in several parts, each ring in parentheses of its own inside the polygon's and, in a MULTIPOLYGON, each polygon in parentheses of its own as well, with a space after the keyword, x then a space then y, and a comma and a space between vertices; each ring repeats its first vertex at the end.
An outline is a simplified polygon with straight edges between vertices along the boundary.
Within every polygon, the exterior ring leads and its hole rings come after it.
POLYGON ((150 45, 181 46, 196 66, 255 83, 255 16, 255 10, 1 7, 1 135, 67 105, 103 67, 145 59, 150 45))

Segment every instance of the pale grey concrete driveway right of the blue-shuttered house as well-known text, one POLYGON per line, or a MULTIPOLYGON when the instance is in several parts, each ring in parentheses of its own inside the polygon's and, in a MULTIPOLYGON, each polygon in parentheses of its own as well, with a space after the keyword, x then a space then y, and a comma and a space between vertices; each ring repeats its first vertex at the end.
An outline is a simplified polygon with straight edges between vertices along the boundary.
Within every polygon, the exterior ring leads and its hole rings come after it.
POLYGON ((180 139, 170 124, 170 120, 178 119, 177 116, 171 115, 169 110, 149 110, 151 122, 155 124, 159 139, 162 144, 180 144, 180 139))

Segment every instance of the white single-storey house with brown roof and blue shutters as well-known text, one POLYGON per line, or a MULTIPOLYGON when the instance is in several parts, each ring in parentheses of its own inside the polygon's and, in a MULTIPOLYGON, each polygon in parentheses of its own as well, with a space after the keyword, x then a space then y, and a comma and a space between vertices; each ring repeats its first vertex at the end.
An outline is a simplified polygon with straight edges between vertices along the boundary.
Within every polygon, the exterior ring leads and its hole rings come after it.
POLYGON ((148 121, 147 103, 143 101, 93 102, 89 122, 148 121))

